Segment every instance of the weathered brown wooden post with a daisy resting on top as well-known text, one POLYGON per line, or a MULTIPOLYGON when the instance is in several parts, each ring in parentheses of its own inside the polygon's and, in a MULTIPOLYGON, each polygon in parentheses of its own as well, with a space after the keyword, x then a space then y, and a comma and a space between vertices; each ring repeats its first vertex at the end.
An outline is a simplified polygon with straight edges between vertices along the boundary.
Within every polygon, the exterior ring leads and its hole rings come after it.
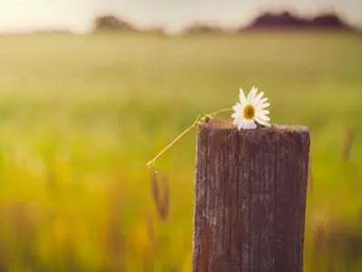
POLYGON ((194 272, 303 270, 308 152, 306 127, 200 125, 194 272))

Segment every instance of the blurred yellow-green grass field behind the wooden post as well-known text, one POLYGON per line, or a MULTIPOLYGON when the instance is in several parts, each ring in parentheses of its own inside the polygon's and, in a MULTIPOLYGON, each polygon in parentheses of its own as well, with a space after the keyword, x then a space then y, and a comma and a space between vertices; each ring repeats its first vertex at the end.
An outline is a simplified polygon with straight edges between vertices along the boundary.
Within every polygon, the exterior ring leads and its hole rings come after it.
POLYGON ((360 35, 6 35, 0 63, 1 271, 190 271, 196 131, 163 218, 146 161, 254 84, 311 131, 306 270, 360 271, 360 35))

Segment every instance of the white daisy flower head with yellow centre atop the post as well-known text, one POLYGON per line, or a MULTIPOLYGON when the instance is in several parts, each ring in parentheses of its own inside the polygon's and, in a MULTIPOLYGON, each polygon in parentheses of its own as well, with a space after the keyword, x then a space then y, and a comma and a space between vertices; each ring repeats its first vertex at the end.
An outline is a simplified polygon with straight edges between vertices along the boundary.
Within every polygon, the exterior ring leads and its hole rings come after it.
POLYGON ((234 119, 233 124, 238 130, 253 130, 257 128, 257 123, 262 126, 270 127, 269 111, 265 110, 269 107, 268 98, 263 97, 264 92, 258 93, 258 88, 252 87, 248 96, 245 96, 240 89, 240 102, 232 107, 234 113, 231 117, 234 119))

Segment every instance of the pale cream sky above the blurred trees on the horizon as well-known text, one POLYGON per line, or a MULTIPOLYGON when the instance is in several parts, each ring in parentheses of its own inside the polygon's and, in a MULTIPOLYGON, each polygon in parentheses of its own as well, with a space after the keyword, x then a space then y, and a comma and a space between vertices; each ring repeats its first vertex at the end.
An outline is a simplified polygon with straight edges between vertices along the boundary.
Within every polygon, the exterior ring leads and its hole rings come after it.
POLYGON ((348 22, 362 25, 362 0, 0 0, 0 32, 87 32, 93 17, 105 13, 141 27, 163 25, 172 31, 195 21, 239 26, 259 11, 280 9, 302 15, 337 11, 348 22))

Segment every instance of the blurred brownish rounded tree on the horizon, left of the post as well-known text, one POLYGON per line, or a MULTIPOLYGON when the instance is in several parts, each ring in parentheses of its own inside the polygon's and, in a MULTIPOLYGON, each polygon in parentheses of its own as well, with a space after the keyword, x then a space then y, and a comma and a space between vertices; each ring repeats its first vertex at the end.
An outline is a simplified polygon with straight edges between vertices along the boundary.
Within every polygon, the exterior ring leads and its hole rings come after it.
POLYGON ((94 19, 94 31, 135 32, 135 27, 114 15, 103 15, 94 19))

